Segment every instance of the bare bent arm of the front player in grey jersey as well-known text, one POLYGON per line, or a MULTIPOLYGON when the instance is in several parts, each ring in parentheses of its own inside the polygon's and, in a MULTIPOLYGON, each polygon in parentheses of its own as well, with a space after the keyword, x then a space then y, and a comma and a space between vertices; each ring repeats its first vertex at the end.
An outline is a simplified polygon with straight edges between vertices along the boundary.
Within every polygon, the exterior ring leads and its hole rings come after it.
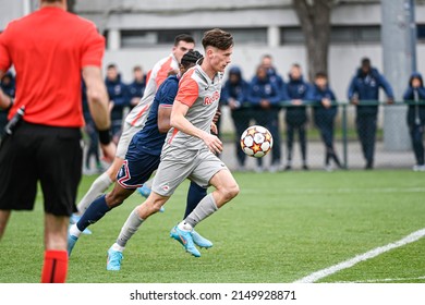
POLYGON ((195 127, 186 118, 189 107, 179 100, 174 101, 174 105, 172 107, 171 117, 170 117, 170 124, 172 127, 192 135, 196 136, 204 141, 204 143, 207 145, 207 147, 215 154, 219 154, 222 151, 222 143, 221 141, 210 133, 207 133, 203 130, 199 130, 195 127))

